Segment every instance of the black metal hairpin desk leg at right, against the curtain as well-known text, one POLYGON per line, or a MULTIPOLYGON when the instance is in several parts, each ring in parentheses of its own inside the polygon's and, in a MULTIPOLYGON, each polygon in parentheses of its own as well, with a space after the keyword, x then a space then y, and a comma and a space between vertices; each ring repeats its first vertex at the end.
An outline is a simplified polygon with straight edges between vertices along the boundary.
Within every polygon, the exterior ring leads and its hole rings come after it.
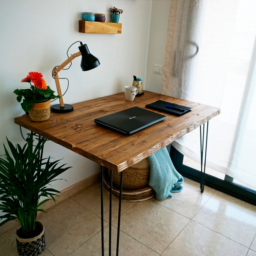
MULTIPOLYGON (((205 125, 205 124, 204 124, 205 125)), ((205 127, 203 125, 203 134, 202 134, 202 125, 200 126, 200 148, 201 148, 201 183, 200 183, 200 189, 201 192, 204 192, 204 177, 205 177, 205 166, 206 166, 206 152, 207 152, 207 137, 208 137, 208 125, 209 121, 207 121, 207 129, 206 129, 206 137, 204 134, 205 127), (205 143, 204 143, 205 140, 205 143), (205 149, 204 149, 205 146, 205 149), (205 151, 204 151, 205 150, 205 151), (204 166, 204 170, 203 170, 204 166)))

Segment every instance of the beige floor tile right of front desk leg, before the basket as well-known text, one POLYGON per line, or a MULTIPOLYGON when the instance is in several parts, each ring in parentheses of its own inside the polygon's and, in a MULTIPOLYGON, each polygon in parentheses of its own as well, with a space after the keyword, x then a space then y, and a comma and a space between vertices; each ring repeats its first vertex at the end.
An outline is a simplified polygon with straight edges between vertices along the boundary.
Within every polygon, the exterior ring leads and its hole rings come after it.
MULTIPOLYGON (((188 222, 188 218, 148 200, 122 215, 120 230, 161 254, 188 222)), ((113 224, 117 227, 117 221, 113 224)))

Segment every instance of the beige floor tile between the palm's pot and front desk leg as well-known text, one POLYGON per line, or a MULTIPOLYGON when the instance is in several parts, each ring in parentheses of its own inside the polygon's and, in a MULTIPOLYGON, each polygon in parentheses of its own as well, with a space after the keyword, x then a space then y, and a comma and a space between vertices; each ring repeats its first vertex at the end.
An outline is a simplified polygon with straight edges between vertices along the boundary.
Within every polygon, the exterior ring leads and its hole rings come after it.
POLYGON ((55 256, 67 256, 101 230, 98 216, 68 199, 39 216, 45 226, 46 248, 55 256))

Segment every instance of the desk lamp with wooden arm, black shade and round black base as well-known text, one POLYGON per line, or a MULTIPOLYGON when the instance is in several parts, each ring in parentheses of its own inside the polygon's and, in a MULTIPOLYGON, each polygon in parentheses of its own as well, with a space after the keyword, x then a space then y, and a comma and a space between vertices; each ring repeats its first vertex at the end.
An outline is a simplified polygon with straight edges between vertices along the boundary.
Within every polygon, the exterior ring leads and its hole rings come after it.
MULTIPOLYGON (((77 43, 77 42, 75 42, 75 43, 77 43)), ((60 86, 60 81, 59 81, 59 77, 58 77, 58 72, 61 71, 64 67, 66 67, 67 64, 69 64, 71 61, 73 61, 74 58, 76 58, 80 55, 82 55, 81 69, 83 71, 91 70, 95 67, 98 67, 99 64, 100 64, 98 58, 96 58, 95 56, 90 54, 87 45, 83 44, 82 42, 80 42, 80 44, 81 45, 78 47, 80 52, 76 52, 75 54, 72 54, 63 63, 61 63, 59 66, 54 67, 53 70, 52 70, 52 77, 55 79, 57 92, 58 92, 58 95, 60 96, 60 98, 59 98, 60 104, 52 105, 52 107, 51 107, 52 112, 68 113, 68 112, 73 111, 73 106, 72 105, 64 104, 64 102, 63 102, 63 97, 62 97, 63 95, 61 93, 61 86, 60 86)), ((71 66, 71 64, 70 64, 70 66, 71 66)))

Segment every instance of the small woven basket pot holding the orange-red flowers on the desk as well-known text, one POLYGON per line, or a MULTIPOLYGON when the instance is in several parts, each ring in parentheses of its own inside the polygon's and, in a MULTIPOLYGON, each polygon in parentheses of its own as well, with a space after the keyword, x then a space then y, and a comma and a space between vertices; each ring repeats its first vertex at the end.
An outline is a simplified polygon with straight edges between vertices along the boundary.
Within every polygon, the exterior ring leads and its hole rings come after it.
POLYGON ((42 122, 50 118, 51 100, 47 102, 35 103, 29 110, 29 117, 32 121, 42 122))

